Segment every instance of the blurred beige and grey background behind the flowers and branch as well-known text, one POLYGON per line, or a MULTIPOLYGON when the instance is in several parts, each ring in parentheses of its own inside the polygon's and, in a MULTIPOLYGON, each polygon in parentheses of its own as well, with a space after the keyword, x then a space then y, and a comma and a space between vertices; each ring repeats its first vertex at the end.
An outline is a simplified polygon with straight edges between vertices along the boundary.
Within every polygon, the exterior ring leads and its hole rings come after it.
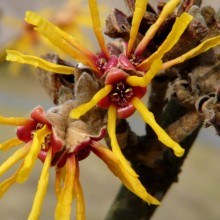
MULTIPOLYGON (((73 1, 74 2, 74 1, 73 1)), ((92 42, 88 47, 98 49, 94 35, 89 26, 89 14, 87 5, 83 1, 76 1, 81 4, 77 10, 84 10, 85 21, 80 31, 89 36, 92 42), (94 46, 95 45, 95 46, 94 46)), ((98 1, 102 6, 101 16, 104 18, 109 14, 112 7, 122 9, 125 13, 122 0, 98 1), (106 7, 103 7, 103 5, 106 7)), ((151 1, 153 2, 153 1, 151 1)), ((155 3, 156 1, 154 1, 155 3)), ((34 10, 43 15, 51 16, 53 12, 60 11, 65 1, 59 0, 0 0, 0 115, 7 117, 24 116, 28 117, 30 111, 37 105, 45 109, 53 106, 52 101, 41 87, 34 75, 34 68, 25 65, 11 65, 4 61, 6 48, 17 49, 25 52, 31 47, 31 42, 26 39, 23 27, 23 18, 26 10, 34 10), (20 42, 20 43, 19 43, 20 42)), ((204 5, 212 5, 219 8, 219 0, 207 0, 204 5)), ((75 12, 77 13, 77 11, 75 12)), ((56 13, 55 13, 56 15, 56 13)), ((79 15, 82 16, 82 15, 79 15)), ((62 17, 62 16, 61 16, 62 17)), ((59 18, 59 17, 58 17, 59 18)), ((104 24, 104 22, 103 22, 104 24)), ((71 23, 70 31, 81 23, 71 23)), ((77 30, 77 29, 76 29, 77 30)), ((78 38, 81 39, 80 35, 78 38)), ((40 55, 44 48, 33 47, 33 55, 40 55)), ((48 48, 50 50, 51 48, 48 48)), ((30 51, 31 51, 30 50, 30 51)), ((30 54, 30 53, 29 53, 30 54)), ((138 115, 130 120, 132 129, 138 134, 143 134, 144 124, 138 115)), ((0 142, 4 142, 14 136, 15 128, 0 125, 0 142)), ((0 164, 8 158, 10 152, 0 152, 0 164)), ((153 220, 218 220, 220 219, 220 175, 219 163, 220 147, 219 138, 212 128, 202 129, 199 137, 191 149, 188 158, 182 167, 179 182, 174 184, 161 206, 152 217, 153 220)), ((4 220, 27 219, 32 201, 36 192, 36 186, 42 164, 37 162, 34 172, 29 180, 22 185, 14 185, 0 200, 0 216, 4 220)), ((16 167, 15 167, 16 169, 16 167)), ((84 189, 86 202, 86 215, 88 220, 102 220, 106 215, 117 191, 120 181, 113 176, 107 167, 93 155, 80 163, 80 180, 84 189)), ((0 177, 0 182, 10 176, 13 170, 0 177)), ((54 170, 50 171, 50 183, 46 198, 43 203, 41 219, 53 219, 56 198, 54 195, 54 170)), ((73 217, 75 213, 73 204, 73 217)))

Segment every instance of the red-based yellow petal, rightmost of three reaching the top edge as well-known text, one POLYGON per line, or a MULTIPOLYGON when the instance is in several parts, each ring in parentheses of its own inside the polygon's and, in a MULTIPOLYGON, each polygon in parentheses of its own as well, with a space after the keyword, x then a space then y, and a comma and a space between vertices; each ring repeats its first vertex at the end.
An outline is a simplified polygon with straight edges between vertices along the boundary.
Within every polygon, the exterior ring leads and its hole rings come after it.
POLYGON ((135 54, 141 55, 144 51, 144 49, 147 47, 148 43, 153 39, 155 36, 157 30, 160 28, 161 24, 165 21, 167 16, 171 14, 177 5, 179 4, 180 0, 170 0, 166 3, 166 5, 163 7, 163 10, 161 11, 157 21, 151 25, 151 27, 146 32, 144 38, 141 40, 141 42, 138 44, 135 54))

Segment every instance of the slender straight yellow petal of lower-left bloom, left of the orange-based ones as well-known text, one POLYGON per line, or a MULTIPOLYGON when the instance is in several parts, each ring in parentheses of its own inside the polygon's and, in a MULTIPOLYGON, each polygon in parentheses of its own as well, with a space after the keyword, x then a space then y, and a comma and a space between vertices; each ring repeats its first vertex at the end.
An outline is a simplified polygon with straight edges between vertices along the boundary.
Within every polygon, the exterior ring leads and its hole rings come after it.
POLYGON ((32 205, 31 212, 28 216, 29 220, 39 219, 40 212, 41 212, 41 206, 42 206, 43 199, 45 197, 45 194, 47 191, 47 186, 48 186, 51 156, 52 156, 52 149, 50 148, 47 153, 46 159, 44 161, 41 176, 38 181, 37 192, 34 197, 34 202, 32 205))

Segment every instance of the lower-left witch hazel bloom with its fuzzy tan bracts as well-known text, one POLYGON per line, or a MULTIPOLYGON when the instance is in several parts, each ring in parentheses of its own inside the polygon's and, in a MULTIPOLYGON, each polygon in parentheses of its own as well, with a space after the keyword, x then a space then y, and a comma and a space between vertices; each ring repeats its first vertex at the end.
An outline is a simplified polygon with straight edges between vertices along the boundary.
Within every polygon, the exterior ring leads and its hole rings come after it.
MULTIPOLYGON (((82 74, 83 83, 86 80, 92 84, 93 78, 85 74, 82 74)), ((81 81, 79 80, 79 83, 81 81)), ((76 95, 80 96, 77 91, 76 95)), ((18 126, 16 137, 0 144, 0 150, 7 151, 18 145, 24 145, 0 165, 2 176, 13 165, 23 160, 12 176, 0 183, 0 197, 13 184, 23 183, 28 179, 38 158, 43 162, 43 169, 28 219, 39 218, 47 190, 49 169, 54 167, 55 192, 58 200, 55 219, 70 219, 75 195, 76 219, 83 220, 85 203, 79 180, 79 162, 86 159, 90 153, 94 153, 131 192, 146 202, 159 204, 159 201, 147 193, 137 174, 132 169, 131 172, 127 172, 124 162, 99 143, 106 134, 103 111, 95 109, 90 111, 85 119, 74 120, 69 117, 69 113, 76 105, 77 100, 69 100, 47 112, 38 106, 32 110, 29 119, 0 116, 0 124, 18 126)))

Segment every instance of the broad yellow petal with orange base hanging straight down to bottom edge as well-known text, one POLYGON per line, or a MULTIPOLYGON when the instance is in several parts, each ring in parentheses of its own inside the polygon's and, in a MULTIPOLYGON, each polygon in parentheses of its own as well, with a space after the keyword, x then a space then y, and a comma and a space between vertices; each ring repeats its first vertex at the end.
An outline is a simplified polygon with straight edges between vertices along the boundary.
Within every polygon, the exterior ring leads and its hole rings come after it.
POLYGON ((75 173, 76 173, 76 159, 74 156, 67 159, 66 169, 67 169, 67 173, 64 182, 64 187, 60 193, 55 210, 56 220, 70 219, 71 204, 73 200, 73 186, 75 182, 75 173))

